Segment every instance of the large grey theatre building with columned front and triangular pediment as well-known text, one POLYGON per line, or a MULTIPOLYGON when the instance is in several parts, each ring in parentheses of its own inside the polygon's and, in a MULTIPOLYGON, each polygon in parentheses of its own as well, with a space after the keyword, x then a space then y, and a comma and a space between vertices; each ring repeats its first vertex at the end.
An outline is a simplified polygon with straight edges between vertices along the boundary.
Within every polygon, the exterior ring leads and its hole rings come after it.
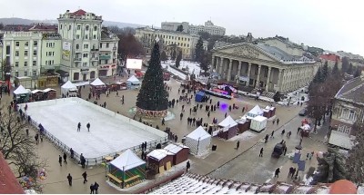
POLYGON ((288 93, 305 86, 320 64, 305 55, 294 55, 298 51, 289 54, 276 46, 251 40, 218 47, 212 52, 212 69, 220 79, 266 92, 288 93))

